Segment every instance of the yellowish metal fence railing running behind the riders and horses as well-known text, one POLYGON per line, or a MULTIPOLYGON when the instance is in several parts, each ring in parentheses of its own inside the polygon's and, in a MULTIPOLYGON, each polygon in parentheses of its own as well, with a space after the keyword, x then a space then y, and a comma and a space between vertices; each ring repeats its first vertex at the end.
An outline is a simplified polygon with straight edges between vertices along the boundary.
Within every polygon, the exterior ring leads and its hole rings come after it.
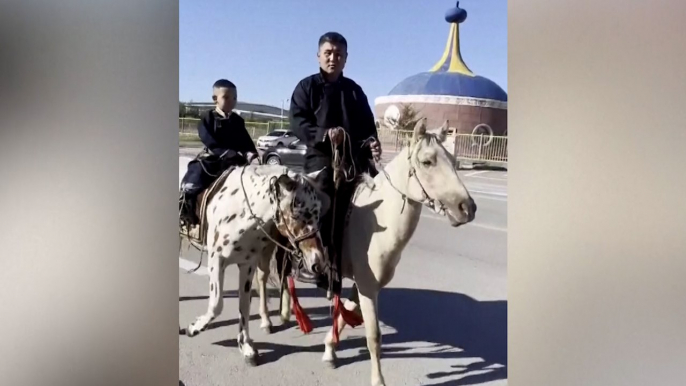
MULTIPOLYGON (((198 119, 179 118, 179 141, 182 145, 201 146, 197 125, 198 119)), ((253 141, 273 130, 288 129, 288 125, 281 122, 245 122, 245 126, 253 141)), ((410 143, 413 134, 411 130, 386 128, 379 128, 377 132, 385 151, 400 151, 410 143)), ((460 161, 507 164, 507 137, 456 134, 449 136, 444 146, 460 161)))

